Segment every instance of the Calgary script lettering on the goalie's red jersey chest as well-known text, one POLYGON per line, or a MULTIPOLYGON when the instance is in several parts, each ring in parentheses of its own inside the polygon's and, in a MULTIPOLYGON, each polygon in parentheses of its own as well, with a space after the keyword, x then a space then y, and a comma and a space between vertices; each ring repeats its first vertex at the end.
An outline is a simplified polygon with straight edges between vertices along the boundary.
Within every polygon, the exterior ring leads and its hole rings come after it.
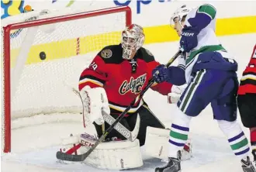
POLYGON ((119 94, 124 95, 128 91, 131 91, 132 93, 135 93, 135 94, 139 94, 145 84, 146 75, 147 74, 140 75, 140 77, 137 77, 136 79, 134 79, 133 77, 130 77, 129 82, 127 80, 123 81, 123 83, 119 88, 119 94))

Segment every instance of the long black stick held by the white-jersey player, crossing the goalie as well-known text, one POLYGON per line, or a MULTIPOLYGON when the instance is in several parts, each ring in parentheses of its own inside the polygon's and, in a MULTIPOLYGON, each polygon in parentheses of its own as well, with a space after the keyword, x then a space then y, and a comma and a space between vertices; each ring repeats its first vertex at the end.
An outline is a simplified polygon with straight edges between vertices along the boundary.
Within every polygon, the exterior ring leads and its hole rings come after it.
MULTIPOLYGON (((165 64, 165 66, 166 67, 170 66, 182 52, 183 52, 183 50, 178 50, 178 52, 175 53, 174 57, 171 57, 171 59, 168 61, 167 64, 165 64)), ((106 136, 109 134, 109 132, 111 132, 112 129, 114 129, 114 126, 116 126, 117 122, 120 122, 120 120, 123 119, 124 115, 126 115, 126 113, 130 110, 130 108, 132 108, 134 103, 136 103, 137 101, 140 101, 140 99, 143 97, 145 92, 148 90, 148 88, 151 87, 152 84, 154 84, 154 78, 150 79, 150 81, 148 82, 148 84, 144 88, 144 90, 140 91, 140 94, 137 96, 137 98, 135 98, 131 102, 131 104, 126 108, 126 110, 124 112, 122 112, 121 115, 119 115, 119 117, 116 119, 116 121, 114 123, 112 123, 112 125, 109 126, 108 129, 106 129, 106 131, 102 134, 102 136, 99 137, 97 142, 95 142, 95 144, 86 153, 83 153, 81 155, 71 155, 71 154, 62 153, 61 151, 58 151, 56 153, 57 159, 58 160, 67 160, 67 161, 84 161, 92 153, 92 151, 95 150, 95 148, 99 145, 99 143, 102 143, 102 141, 106 138, 106 136)))

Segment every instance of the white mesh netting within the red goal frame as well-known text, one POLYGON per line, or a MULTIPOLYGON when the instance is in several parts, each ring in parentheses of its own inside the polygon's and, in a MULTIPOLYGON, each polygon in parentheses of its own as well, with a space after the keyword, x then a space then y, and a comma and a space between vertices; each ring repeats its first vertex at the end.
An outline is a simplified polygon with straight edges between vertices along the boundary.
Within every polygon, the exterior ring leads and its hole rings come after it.
MULTIPOLYGON (((63 11, 51 12, 49 16, 74 13, 74 9, 63 11)), ((20 19, 24 21, 35 15, 35 12, 26 13, 16 18, 19 21, 12 17, 7 22, 21 22, 20 19)), ((47 15, 42 16, 47 18, 47 15)), ((16 83, 12 89, 12 119, 41 113, 81 112, 81 101, 72 88, 78 88, 81 71, 100 48, 119 43, 120 32, 116 31, 121 31, 125 23, 125 12, 119 12, 16 30, 10 38, 11 82, 16 83), (79 55, 76 55, 77 38, 80 38, 79 55), (26 48, 29 53, 22 52, 26 48), (47 55, 43 62, 38 53, 41 51, 47 55), (48 60, 54 56, 58 59, 48 60), (23 57, 26 57, 26 65, 17 70, 19 58, 23 57), (28 64, 31 61, 36 63, 28 64)))

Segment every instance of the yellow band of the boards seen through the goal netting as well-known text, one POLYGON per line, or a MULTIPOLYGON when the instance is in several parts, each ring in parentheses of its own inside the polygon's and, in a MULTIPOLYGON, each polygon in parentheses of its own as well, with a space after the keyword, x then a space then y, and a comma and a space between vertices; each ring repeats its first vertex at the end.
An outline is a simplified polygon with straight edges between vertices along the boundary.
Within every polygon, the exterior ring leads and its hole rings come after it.
MULTIPOLYGON (((67 58, 79 54, 89 53, 95 50, 101 50, 104 46, 118 44, 121 40, 120 32, 104 33, 95 36, 85 36, 79 39, 79 50, 77 39, 61 40, 52 43, 43 43, 36 46, 31 46, 29 57, 26 64, 34 64, 42 61, 67 58), (40 59, 40 52, 46 53, 46 59, 40 59)), ((19 50, 11 51, 11 65, 15 65, 16 57, 19 55, 19 50)))

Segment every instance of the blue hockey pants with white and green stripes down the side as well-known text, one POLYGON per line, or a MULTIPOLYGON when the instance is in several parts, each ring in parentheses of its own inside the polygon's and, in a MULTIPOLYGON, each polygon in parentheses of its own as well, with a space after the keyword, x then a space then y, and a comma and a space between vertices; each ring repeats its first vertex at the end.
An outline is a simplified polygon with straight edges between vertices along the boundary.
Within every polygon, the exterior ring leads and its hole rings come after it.
POLYGON ((197 116, 210 103, 214 119, 233 122, 237 119, 237 88, 234 71, 197 71, 177 105, 185 115, 197 116))

